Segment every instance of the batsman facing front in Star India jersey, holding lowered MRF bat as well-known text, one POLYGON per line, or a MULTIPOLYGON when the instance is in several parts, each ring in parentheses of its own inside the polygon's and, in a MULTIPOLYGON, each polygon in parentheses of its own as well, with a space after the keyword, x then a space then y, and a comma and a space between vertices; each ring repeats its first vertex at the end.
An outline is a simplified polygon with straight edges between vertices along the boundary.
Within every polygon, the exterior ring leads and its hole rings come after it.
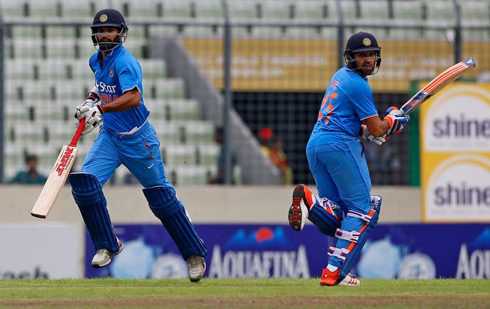
POLYGON ((92 266, 108 265, 123 250, 102 192, 104 183, 123 164, 143 185, 151 211, 189 261, 189 279, 199 281, 206 269, 208 249, 165 176, 160 142, 147 121, 141 66, 123 47, 128 32, 124 17, 116 10, 103 9, 95 15, 91 29, 94 46, 98 46, 89 60, 95 86, 76 107, 75 125, 85 119, 82 135, 98 125, 100 130, 81 172, 70 174, 70 183, 96 250, 92 266))

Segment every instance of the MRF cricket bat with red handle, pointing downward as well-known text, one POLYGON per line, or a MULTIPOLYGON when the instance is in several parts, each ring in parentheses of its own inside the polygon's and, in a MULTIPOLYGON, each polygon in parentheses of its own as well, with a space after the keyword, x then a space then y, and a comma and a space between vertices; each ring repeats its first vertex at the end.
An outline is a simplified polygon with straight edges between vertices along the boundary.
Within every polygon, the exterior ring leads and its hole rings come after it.
POLYGON ((78 148, 76 143, 82 134, 85 119, 80 120, 80 124, 73 135, 73 139, 70 144, 63 146, 56 163, 54 163, 53 169, 48 176, 48 180, 44 184, 43 190, 37 198, 36 204, 32 207, 31 215, 37 218, 46 219, 51 211, 51 208, 56 203, 58 196, 65 185, 65 182, 70 174, 70 170, 73 166, 78 148))

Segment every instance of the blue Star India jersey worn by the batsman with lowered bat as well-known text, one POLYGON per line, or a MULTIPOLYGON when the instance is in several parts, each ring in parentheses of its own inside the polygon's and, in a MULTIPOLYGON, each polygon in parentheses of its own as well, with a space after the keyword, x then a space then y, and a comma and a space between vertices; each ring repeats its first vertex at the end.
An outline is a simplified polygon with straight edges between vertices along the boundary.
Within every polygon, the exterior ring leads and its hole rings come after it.
POLYGON ((124 91, 134 87, 137 87, 141 94, 140 106, 103 114, 101 127, 116 132, 129 132, 134 127, 141 127, 149 115, 143 102, 141 65, 130 52, 124 49, 122 44, 104 57, 102 66, 100 66, 101 59, 102 53, 98 51, 90 57, 89 65, 95 74, 95 83, 102 105, 116 100, 123 95, 124 91))

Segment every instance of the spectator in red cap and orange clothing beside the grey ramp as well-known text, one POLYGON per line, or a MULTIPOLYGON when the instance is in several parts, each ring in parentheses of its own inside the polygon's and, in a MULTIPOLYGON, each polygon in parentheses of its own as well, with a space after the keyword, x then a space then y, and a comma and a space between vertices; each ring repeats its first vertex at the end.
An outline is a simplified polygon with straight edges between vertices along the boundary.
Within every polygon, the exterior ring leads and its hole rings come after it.
POLYGON ((274 135, 270 128, 262 128, 259 130, 259 140, 262 153, 270 158, 272 164, 279 168, 281 172, 282 184, 293 184, 293 170, 288 166, 286 153, 282 149, 282 140, 274 135))

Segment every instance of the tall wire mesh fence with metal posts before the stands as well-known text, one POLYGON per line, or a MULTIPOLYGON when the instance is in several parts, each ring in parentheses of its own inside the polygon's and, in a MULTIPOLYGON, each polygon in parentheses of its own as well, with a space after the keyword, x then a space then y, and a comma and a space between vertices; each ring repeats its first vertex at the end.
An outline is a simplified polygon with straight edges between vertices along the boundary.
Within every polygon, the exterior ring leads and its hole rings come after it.
MULTIPOLYGON (((86 15, 70 19, 63 15, 66 1, 52 2, 58 4, 54 20, 31 16, 34 1, 26 1, 17 17, 2 10, 3 181, 30 153, 49 173, 73 134, 72 110, 93 84, 89 25, 103 4, 87 1, 86 15)), ((477 68, 465 78, 490 71, 490 17, 482 16, 488 1, 217 0, 207 1, 219 5, 209 11, 201 6, 206 1, 114 2, 106 4, 126 16, 124 46, 142 63, 150 121, 177 185, 208 183, 221 172, 217 181, 225 183, 314 183, 306 143, 329 79, 343 66, 345 41, 356 31, 373 33, 382 47, 381 70, 369 78, 380 116, 467 56, 477 68), (473 4, 479 15, 468 18, 473 4), (214 139, 217 128, 223 143, 214 139), (284 151, 287 168, 263 154, 259 137, 266 131, 284 151)), ((412 115, 408 128, 382 147, 366 144, 373 184, 418 184, 417 113, 412 115)), ((75 168, 93 139, 82 138, 75 168)), ((112 180, 133 182, 124 170, 112 180)))

